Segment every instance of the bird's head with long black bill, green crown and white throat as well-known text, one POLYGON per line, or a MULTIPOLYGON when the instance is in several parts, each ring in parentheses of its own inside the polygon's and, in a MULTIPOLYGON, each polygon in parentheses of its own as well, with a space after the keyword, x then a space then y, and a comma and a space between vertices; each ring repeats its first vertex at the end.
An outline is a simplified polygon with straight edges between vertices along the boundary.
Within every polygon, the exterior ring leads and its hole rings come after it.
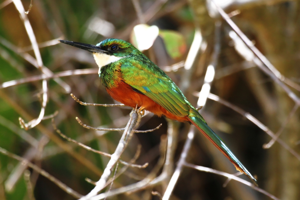
POLYGON ((122 58, 140 53, 131 43, 120 39, 106 39, 97 45, 85 44, 80 42, 71 42, 67 40, 58 40, 77 48, 92 52, 96 63, 101 67, 116 62, 122 58))

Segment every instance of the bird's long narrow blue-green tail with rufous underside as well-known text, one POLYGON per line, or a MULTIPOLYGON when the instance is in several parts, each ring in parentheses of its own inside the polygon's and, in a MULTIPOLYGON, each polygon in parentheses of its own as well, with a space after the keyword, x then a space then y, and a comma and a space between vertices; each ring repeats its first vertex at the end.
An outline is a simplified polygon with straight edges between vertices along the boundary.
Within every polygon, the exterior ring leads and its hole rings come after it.
POLYGON ((235 157, 235 155, 230 151, 230 149, 226 146, 223 140, 219 136, 217 136, 217 134, 214 133, 213 130, 211 130, 211 128, 205 123, 204 119, 198 112, 197 115, 199 116, 187 116, 187 118, 194 126, 196 126, 201 131, 201 133, 203 133, 205 137, 207 137, 207 139, 209 139, 232 162, 236 170, 243 172, 245 175, 247 175, 257 186, 256 179, 250 174, 250 172, 248 172, 248 170, 237 159, 237 157, 235 157))

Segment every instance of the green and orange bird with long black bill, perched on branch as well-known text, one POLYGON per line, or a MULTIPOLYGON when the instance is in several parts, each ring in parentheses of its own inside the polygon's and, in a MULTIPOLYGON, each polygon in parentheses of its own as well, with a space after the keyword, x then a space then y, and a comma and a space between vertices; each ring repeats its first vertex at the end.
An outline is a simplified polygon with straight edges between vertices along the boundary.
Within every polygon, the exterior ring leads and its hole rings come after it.
POLYGON ((99 78, 113 99, 133 108, 138 106, 140 110, 157 116, 190 122, 257 186, 256 179, 207 125, 179 87, 131 43, 113 38, 97 45, 58 41, 92 53, 99 67, 99 78))

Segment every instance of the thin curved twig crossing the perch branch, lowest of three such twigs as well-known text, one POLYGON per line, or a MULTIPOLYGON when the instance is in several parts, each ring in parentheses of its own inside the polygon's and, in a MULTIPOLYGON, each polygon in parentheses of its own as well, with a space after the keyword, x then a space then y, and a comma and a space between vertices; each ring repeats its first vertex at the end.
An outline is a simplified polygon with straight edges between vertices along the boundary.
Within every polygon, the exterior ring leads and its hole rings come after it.
MULTIPOLYGON (((94 153, 97 153, 97 154, 100 154, 100 155, 103 155, 103 156, 106 156, 106 157, 111 157, 112 156, 111 154, 105 153, 103 151, 98 151, 98 150, 93 149, 93 148, 91 148, 91 147, 89 147, 87 145, 84 145, 84 144, 82 144, 80 142, 77 142, 74 139, 71 139, 71 138, 67 137, 66 135, 64 135, 63 133, 61 133, 61 131, 59 129, 57 129, 57 127, 56 127, 56 125, 54 123, 54 119, 53 118, 52 118, 52 127, 56 131, 56 133, 58 133, 62 138, 66 139, 69 142, 74 142, 76 145, 78 145, 78 146, 80 146, 82 148, 85 148, 88 151, 92 151, 94 153)), ((136 164, 132 164, 132 163, 127 163, 127 162, 125 162, 123 160, 119 160, 119 162, 122 163, 123 165, 130 166, 130 167, 137 167, 139 169, 144 169, 144 168, 146 168, 149 165, 149 163, 145 163, 144 165, 136 165, 136 164)))

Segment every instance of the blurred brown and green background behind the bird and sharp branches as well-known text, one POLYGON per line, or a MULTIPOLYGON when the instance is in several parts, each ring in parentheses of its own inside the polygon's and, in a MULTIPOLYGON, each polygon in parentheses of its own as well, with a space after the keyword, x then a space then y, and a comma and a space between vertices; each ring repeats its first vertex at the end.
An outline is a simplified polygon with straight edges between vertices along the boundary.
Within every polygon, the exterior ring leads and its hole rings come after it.
MULTIPOLYGON (((57 39, 97 44, 106 38, 119 38, 133 43, 164 70, 193 106, 197 105, 207 67, 212 66, 215 75, 210 92, 238 106, 234 108, 240 113, 245 112, 245 116, 250 113, 265 127, 257 126, 230 106, 211 99, 207 99, 201 114, 249 172, 256 176, 260 188, 279 199, 300 199, 300 101, 297 104, 300 97, 300 1, 216 1, 286 77, 281 83, 290 91, 289 94, 274 81, 274 77, 257 67, 262 64, 209 0, 33 0, 32 7, 30 0, 22 0, 25 11, 29 7, 31 10, 21 17, 20 8, 16 9, 20 2, 0 2, 1 148, 26 158, 82 195, 90 192, 94 186, 85 178, 98 181, 109 158, 61 138, 53 130, 51 119, 24 130, 19 125, 19 117, 28 122, 40 115, 45 90, 38 77, 43 72, 49 75, 91 69, 86 74, 47 79, 45 116, 58 111, 55 124, 62 133, 112 154, 121 133, 85 129, 75 117, 92 127, 122 128, 128 122, 131 109, 76 103, 70 93, 87 103, 118 102, 101 84, 92 55, 58 44, 57 39), (29 19, 42 63, 36 60, 22 17, 29 19), (192 63, 185 62, 187 55, 194 57, 192 63), (39 66, 49 70, 41 72, 39 66), (8 82, 19 79, 24 83, 8 82), (270 144, 272 138, 264 130, 277 134, 280 142, 270 144)), ((149 166, 145 169, 129 167, 113 182, 112 190, 140 181, 149 174, 155 178, 161 173, 167 131, 172 131, 176 139, 172 147, 172 164, 176 167, 190 125, 148 113, 138 130, 153 129, 161 123, 163 125, 158 130, 136 133, 122 155, 123 160, 131 160, 140 145, 141 153, 136 163, 143 165, 148 162, 149 166)), ((237 172, 229 160, 198 132, 187 162, 231 174, 237 172)), ((249 181, 245 175, 240 177, 249 181)), ((184 167, 170 199, 270 199, 233 180, 224 185, 226 179, 184 167)), ((107 199, 159 199, 152 196, 151 191, 164 194, 167 183, 164 181, 107 199)), ((0 154, 0 199, 75 198, 27 168, 26 163, 0 154)))

